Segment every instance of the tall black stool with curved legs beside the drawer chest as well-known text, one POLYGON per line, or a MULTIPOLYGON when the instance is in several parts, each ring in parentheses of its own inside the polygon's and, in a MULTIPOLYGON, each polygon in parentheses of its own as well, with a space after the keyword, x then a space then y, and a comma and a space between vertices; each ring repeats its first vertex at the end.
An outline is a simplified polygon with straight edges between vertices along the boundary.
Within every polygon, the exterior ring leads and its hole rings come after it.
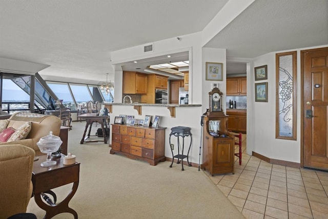
POLYGON ((171 148, 171 152, 172 152, 172 163, 170 165, 170 168, 172 168, 172 165, 173 165, 173 162, 174 162, 174 158, 178 158, 178 161, 176 162, 177 164, 180 163, 180 160, 181 160, 181 166, 182 166, 182 171, 185 170, 183 169, 183 159, 187 158, 187 163, 188 163, 188 166, 191 167, 191 164, 189 163, 189 159, 188 159, 188 156, 189 156, 189 151, 190 151, 190 148, 191 148, 191 142, 192 142, 192 136, 191 136, 191 132, 190 132, 190 128, 189 127, 183 127, 183 126, 177 126, 177 127, 173 127, 171 128, 171 133, 170 133, 170 148, 171 148), (176 136, 178 138, 178 154, 177 155, 174 155, 173 154, 173 148, 171 147, 171 137, 172 136, 176 136), (189 145, 189 149, 188 149, 188 153, 187 155, 184 155, 183 154, 183 149, 185 147, 185 137, 186 136, 190 136, 190 145, 189 145), (182 151, 181 151, 181 154, 180 154, 180 143, 179 143, 179 137, 182 137, 182 151))

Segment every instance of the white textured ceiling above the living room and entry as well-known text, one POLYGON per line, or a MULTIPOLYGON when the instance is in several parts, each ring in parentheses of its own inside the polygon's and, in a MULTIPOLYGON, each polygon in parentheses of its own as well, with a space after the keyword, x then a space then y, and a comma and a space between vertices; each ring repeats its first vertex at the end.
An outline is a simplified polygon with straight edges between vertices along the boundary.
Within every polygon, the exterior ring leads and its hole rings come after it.
MULTIPOLYGON (((50 65, 40 71, 46 79, 97 83, 110 73, 113 80, 111 51, 201 31, 227 2, 2 0, 0 57, 50 65)), ((328 0, 256 0, 206 47, 227 48, 229 57, 253 58, 326 45, 327 11, 328 0)), ((228 71, 233 69, 229 66, 228 71)))

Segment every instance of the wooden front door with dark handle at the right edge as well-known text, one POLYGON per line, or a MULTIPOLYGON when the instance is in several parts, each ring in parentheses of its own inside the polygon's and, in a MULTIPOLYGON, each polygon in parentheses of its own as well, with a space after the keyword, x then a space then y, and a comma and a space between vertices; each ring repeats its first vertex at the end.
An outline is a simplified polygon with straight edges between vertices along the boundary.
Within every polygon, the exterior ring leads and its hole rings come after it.
POLYGON ((304 167, 328 170, 328 47, 301 51, 304 167))

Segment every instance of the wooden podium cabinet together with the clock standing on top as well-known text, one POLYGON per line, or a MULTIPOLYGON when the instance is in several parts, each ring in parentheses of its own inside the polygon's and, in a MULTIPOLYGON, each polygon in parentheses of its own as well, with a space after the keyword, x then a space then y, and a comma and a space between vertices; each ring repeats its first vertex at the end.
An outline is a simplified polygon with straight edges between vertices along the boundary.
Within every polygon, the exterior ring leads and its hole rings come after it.
POLYGON ((222 92, 213 88, 209 92, 209 109, 204 113, 203 164, 212 176, 220 173, 233 173, 234 136, 227 129, 228 116, 222 111, 222 92))

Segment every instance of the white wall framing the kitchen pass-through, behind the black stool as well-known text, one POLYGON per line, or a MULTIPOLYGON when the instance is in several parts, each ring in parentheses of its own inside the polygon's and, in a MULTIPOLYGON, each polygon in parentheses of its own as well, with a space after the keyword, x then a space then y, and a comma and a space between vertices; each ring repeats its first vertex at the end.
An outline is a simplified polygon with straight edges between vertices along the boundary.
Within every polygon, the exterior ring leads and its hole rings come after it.
MULTIPOLYGON (((163 54, 177 53, 182 51, 189 51, 189 104, 202 104, 202 81, 205 80, 204 74, 202 73, 202 49, 200 46, 201 34, 193 33, 189 35, 180 36, 181 40, 177 41, 176 38, 170 38, 163 41, 154 42, 154 52, 144 53, 144 45, 137 47, 127 48, 125 50, 119 50, 112 53, 112 64, 115 69, 115 103, 121 103, 121 74, 118 66, 124 62, 134 61, 136 59, 143 59, 148 57, 155 57, 163 54), (117 86, 119 85, 119 86, 117 86), (120 98, 118 98, 120 97, 120 98)), ((220 50, 219 50, 220 51, 220 50)), ((212 57, 212 55, 209 55, 212 57)), ((212 61, 224 61, 224 55, 214 55, 212 61)), ((225 72, 225 70, 224 70, 225 72)), ((207 93, 210 90, 207 91, 207 93)), ((206 98, 208 99, 208 98, 206 98)), ((205 112, 202 107, 176 107, 175 118, 172 118, 170 111, 167 107, 142 107, 141 114, 138 115, 137 111, 133 109, 133 106, 122 106, 114 105, 113 113, 111 114, 111 122, 113 123, 114 117, 119 114, 134 115, 135 118, 144 119, 145 115, 152 115, 154 119, 155 115, 160 116, 161 127, 167 127, 166 129, 166 140, 165 140, 165 156, 172 157, 172 153, 169 146, 169 134, 171 128, 175 126, 186 126, 191 128, 192 133, 192 146, 189 156, 189 161, 192 163, 199 162, 199 146, 200 146, 200 119, 201 115, 205 112)), ((111 141, 111 140, 110 140, 111 141)), ((172 141, 175 141, 174 155, 177 154, 177 139, 172 137, 172 141)), ((189 137, 185 138, 185 145, 189 146, 189 137)), ((182 142, 181 142, 182 143, 182 142)), ((185 153, 188 149, 185 149, 185 153)))

